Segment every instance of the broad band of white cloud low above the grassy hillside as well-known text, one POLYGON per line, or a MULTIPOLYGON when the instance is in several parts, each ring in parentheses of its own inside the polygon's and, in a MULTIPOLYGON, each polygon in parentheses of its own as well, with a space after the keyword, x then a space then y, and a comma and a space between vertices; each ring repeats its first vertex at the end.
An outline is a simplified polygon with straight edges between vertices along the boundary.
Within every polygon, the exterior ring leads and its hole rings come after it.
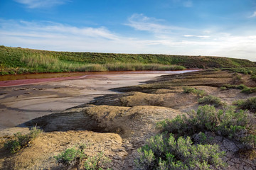
POLYGON ((256 61, 256 33, 243 36, 208 30, 208 35, 203 35, 203 30, 186 30, 186 34, 181 31, 144 39, 124 37, 103 27, 0 19, 0 45, 57 51, 215 55, 256 61))

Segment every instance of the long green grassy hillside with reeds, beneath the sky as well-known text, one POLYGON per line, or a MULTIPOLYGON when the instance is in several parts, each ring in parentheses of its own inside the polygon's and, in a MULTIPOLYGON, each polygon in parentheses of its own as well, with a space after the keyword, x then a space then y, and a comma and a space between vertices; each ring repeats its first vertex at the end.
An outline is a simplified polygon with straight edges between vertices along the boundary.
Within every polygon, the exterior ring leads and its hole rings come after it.
POLYGON ((184 69, 184 67, 255 67, 255 65, 254 62, 250 62, 249 60, 227 57, 54 52, 0 46, 1 74, 24 72, 177 70, 184 69), (181 65, 183 67, 173 65, 181 65))

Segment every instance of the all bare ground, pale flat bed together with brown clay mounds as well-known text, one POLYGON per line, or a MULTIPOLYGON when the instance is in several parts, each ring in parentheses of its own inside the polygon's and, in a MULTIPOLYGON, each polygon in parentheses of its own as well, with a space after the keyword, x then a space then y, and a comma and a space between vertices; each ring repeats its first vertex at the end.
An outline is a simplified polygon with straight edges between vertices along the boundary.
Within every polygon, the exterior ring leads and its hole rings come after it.
MULTIPOLYGON (((233 73, 213 70, 158 77, 160 75, 163 74, 92 75, 84 79, 0 88, 3 118, 0 128, 4 129, 0 129, 0 169, 81 169, 82 162, 63 167, 53 156, 84 144, 88 157, 104 152, 105 157, 112 160, 105 168, 136 169, 137 149, 150 136, 159 133, 156 123, 198 108, 198 96, 184 94, 183 86, 218 96, 228 106, 238 99, 256 96, 242 94, 239 89, 220 90, 223 84, 255 87, 256 82, 248 75, 241 74, 240 81, 234 79, 233 73), (112 88, 119 92, 110 91, 112 88), (25 127, 38 125, 44 132, 29 147, 10 154, 4 142, 10 140, 14 132, 27 133, 28 128, 8 127, 21 123, 25 127)), ((242 143, 212 132, 206 135, 213 137, 212 145, 218 144, 225 152, 223 161, 228 165, 225 169, 255 169, 255 157, 240 152, 242 143)))

